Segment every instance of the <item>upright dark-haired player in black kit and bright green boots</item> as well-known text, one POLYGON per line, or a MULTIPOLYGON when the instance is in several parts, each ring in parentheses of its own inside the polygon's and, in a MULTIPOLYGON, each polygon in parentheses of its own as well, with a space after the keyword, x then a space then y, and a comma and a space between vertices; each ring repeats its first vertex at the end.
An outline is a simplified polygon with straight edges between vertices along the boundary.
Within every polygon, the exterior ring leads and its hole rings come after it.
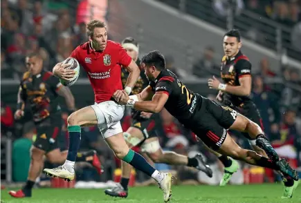
MULTIPOLYGON (((262 126, 262 118, 260 117, 259 110, 250 99, 250 92, 252 86, 251 67, 250 61, 246 55, 241 52, 241 36, 238 30, 230 30, 224 35, 224 53, 225 56, 221 60, 221 79, 224 83, 221 83, 217 78, 212 77, 208 79, 208 86, 219 90, 217 100, 225 106, 229 106, 237 110, 248 117, 248 119, 255 122, 257 125, 262 126)), ((248 133, 242 133, 248 138, 250 145, 254 150, 264 157, 270 158, 273 152, 273 148, 268 146, 263 151, 256 143, 256 137, 250 137, 248 133)), ((267 142, 267 141, 266 141, 267 142)), ((266 143, 267 145, 270 145, 266 143)), ((226 156, 215 153, 221 162, 225 165, 225 173, 220 185, 224 186, 230 180, 232 173, 237 171, 238 164, 234 160, 228 159, 226 156)), ((275 158, 275 157, 274 157, 275 158)), ((282 198, 290 198, 293 195, 293 191, 298 186, 298 182, 294 182, 290 177, 284 175, 284 185, 286 189, 282 198)))

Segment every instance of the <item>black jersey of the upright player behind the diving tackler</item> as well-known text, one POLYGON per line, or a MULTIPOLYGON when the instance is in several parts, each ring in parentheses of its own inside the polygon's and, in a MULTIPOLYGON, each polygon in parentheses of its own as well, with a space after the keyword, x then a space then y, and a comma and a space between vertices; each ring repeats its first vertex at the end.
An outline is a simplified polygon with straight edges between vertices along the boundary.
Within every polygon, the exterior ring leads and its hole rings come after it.
MULTIPOLYGON (((239 78, 250 77, 251 68, 252 64, 250 64, 248 57, 243 55, 241 51, 232 58, 224 56, 221 60, 221 79, 225 84, 239 86, 239 78)), ((241 106, 251 100, 247 96, 237 96, 224 92, 223 101, 225 104, 230 102, 233 106, 241 106)))

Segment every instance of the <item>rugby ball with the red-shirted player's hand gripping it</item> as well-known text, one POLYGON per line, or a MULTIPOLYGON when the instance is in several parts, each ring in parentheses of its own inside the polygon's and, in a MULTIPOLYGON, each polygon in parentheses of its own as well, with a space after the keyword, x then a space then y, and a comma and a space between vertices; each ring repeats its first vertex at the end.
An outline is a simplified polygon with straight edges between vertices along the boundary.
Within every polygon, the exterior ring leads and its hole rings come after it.
POLYGON ((60 77, 62 85, 71 86, 80 76, 80 64, 76 59, 69 57, 62 63, 55 65, 53 74, 60 77))

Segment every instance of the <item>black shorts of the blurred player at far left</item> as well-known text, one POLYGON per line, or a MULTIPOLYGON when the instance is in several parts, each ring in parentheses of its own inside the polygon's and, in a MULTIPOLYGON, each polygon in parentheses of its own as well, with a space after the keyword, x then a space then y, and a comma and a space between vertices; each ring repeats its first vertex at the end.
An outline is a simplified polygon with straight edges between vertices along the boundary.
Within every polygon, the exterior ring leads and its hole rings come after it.
POLYGON ((62 133, 61 117, 47 118, 44 121, 35 124, 35 126, 37 128, 37 137, 33 146, 46 153, 59 148, 57 139, 62 133))

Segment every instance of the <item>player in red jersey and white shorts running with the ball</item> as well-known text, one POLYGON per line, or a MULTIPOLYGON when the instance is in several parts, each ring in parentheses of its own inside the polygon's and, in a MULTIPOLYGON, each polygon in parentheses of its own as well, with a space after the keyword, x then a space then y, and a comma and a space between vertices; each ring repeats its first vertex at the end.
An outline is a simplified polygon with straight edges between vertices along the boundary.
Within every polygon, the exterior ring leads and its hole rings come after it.
MULTIPOLYGON (((66 162, 58 168, 46 168, 44 172, 69 181, 73 180, 75 157, 80 147, 80 128, 98 125, 100 133, 116 157, 153 177, 163 190, 164 201, 168 202, 172 195, 172 174, 158 172, 141 155, 127 146, 120 124, 125 106, 117 104, 112 97, 116 90, 122 90, 121 66, 129 71, 125 84, 127 94, 131 93, 136 84, 140 70, 120 43, 107 40, 107 28, 103 22, 92 20, 87 24, 86 30, 89 41, 77 46, 70 57, 77 59, 86 70, 94 90, 95 104, 77 110, 68 117, 70 142, 66 162)), ((60 65, 55 66, 53 72, 65 80, 71 80, 75 75, 74 70, 66 70, 60 65)))

